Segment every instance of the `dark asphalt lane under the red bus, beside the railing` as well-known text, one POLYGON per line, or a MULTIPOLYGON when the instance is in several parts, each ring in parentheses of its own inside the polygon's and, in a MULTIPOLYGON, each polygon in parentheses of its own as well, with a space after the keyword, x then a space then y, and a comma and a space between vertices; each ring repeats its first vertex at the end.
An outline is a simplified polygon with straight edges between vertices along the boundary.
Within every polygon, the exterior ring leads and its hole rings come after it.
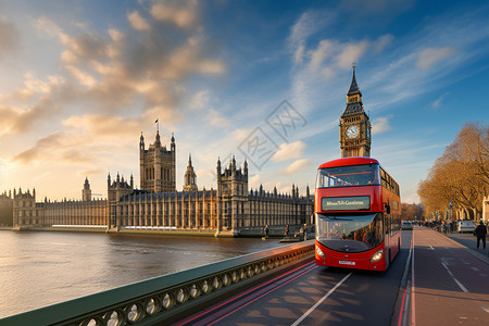
POLYGON ((411 231, 386 272, 305 263, 176 325, 390 325, 406 267, 411 231))

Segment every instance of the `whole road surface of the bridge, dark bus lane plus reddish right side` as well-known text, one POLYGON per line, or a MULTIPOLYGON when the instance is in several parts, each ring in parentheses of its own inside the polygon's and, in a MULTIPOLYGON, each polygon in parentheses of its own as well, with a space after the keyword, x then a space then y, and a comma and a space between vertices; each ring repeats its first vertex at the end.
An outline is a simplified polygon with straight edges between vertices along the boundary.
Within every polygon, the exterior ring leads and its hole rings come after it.
POLYGON ((175 325, 489 325, 489 259, 471 251, 415 227, 386 272, 309 260, 175 325))

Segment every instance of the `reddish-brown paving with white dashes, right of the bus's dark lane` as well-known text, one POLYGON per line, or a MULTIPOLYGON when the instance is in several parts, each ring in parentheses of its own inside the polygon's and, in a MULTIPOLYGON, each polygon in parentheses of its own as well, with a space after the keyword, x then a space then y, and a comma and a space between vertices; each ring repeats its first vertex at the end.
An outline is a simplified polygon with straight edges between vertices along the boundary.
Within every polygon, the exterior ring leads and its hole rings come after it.
POLYGON ((411 325, 489 325, 488 249, 477 251, 475 241, 414 229, 411 325))

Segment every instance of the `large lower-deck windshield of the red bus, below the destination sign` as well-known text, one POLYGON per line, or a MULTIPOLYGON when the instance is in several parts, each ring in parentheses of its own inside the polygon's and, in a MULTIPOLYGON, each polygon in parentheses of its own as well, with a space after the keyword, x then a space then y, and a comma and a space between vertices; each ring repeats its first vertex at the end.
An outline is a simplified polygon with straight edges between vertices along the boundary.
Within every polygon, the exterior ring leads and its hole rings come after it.
POLYGON ((383 213, 317 214, 316 240, 340 252, 362 252, 384 241, 383 213))

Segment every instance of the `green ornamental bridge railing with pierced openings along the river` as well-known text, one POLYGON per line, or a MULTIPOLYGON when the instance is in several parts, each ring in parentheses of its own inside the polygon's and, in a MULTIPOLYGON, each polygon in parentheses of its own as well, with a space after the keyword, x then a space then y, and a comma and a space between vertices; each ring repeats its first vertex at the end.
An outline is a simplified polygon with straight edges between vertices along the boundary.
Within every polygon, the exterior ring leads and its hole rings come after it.
MULTIPOLYGON (((1 325, 171 323, 314 253, 314 241, 241 255, 0 319, 1 325)), ((196 254, 199 254, 196 251, 196 254)))

